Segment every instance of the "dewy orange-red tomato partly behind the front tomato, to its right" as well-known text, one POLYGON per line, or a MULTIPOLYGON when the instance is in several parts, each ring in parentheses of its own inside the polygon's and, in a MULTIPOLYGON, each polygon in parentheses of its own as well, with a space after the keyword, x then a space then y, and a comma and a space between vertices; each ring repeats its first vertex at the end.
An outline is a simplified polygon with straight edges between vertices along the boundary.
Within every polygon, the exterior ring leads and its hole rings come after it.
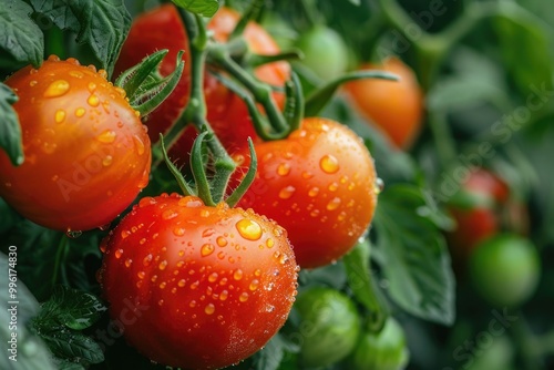
POLYGON ((285 227, 301 267, 328 265, 350 250, 377 204, 373 160, 361 138, 314 117, 255 148, 258 171, 239 206, 285 227))

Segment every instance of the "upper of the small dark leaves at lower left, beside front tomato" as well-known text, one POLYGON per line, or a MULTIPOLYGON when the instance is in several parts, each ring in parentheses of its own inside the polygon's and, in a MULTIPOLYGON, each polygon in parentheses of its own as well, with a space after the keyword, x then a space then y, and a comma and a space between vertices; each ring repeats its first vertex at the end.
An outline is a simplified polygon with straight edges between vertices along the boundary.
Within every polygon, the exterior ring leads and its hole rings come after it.
POLYGON ((35 318, 38 326, 61 323, 70 329, 82 330, 91 327, 106 310, 91 294, 57 286, 52 297, 42 306, 35 318))

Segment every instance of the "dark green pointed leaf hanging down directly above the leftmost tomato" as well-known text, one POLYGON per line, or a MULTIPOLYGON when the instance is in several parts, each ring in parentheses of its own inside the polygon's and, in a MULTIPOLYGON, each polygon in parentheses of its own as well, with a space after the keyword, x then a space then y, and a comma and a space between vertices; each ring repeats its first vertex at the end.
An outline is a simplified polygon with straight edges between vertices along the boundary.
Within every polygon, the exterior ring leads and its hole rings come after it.
POLYGON ((131 28, 131 14, 122 0, 31 0, 62 30, 78 34, 76 42, 86 43, 109 75, 131 28))

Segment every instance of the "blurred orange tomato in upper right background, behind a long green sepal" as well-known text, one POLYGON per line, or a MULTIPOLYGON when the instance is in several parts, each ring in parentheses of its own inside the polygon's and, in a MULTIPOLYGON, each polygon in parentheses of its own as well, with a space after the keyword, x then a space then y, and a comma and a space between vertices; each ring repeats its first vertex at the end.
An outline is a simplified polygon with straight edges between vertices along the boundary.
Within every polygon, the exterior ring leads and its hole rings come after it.
POLYGON ((366 63, 359 70, 381 70, 397 74, 399 81, 363 79, 345 85, 360 113, 399 148, 409 148, 423 122, 423 93, 413 71, 397 58, 382 64, 366 63))

